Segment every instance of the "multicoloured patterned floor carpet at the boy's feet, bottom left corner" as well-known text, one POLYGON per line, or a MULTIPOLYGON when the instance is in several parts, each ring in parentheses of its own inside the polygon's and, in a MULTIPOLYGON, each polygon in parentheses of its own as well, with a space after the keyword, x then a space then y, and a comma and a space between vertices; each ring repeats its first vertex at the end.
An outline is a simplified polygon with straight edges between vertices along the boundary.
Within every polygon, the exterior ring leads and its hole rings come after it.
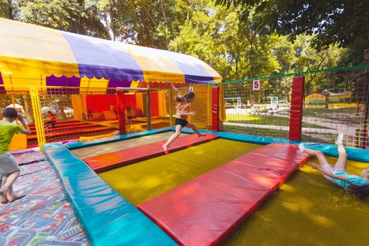
POLYGON ((15 158, 21 174, 14 190, 26 197, 0 205, 0 245, 90 245, 43 153, 15 158))

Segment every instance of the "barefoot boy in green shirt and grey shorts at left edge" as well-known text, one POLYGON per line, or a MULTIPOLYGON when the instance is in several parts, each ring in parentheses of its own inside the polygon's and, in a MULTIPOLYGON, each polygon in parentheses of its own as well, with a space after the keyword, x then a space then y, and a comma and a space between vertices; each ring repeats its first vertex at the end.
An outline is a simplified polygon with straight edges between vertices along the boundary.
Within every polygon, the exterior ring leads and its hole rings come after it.
POLYGON ((22 196, 15 195, 13 192, 13 183, 20 174, 18 163, 8 152, 8 146, 14 134, 30 135, 32 132, 25 123, 22 115, 18 114, 14 108, 6 108, 3 112, 3 120, 0 121, 0 171, 3 174, 0 188, 0 202, 6 204, 13 202, 22 196), (15 119, 22 122, 25 129, 20 128, 17 124, 12 124, 15 119))

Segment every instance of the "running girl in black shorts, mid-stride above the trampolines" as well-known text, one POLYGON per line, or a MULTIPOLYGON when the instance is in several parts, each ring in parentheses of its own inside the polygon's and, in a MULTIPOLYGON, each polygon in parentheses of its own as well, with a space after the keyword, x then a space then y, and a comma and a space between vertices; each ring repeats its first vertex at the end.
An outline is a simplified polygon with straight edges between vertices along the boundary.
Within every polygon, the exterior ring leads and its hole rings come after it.
POLYGON ((205 135, 200 134, 195 125, 187 121, 188 116, 196 115, 195 112, 190 112, 190 104, 195 100, 195 93, 193 91, 187 91, 186 94, 183 96, 181 95, 181 93, 179 93, 179 90, 177 90, 173 84, 171 84, 170 82, 167 83, 171 85, 171 88, 173 88, 174 91, 176 91, 176 102, 178 103, 176 106, 176 132, 169 137, 167 143, 162 145, 164 153, 166 155, 169 155, 168 147, 174 140, 176 140, 176 138, 181 135, 183 127, 193 129, 193 131, 195 131, 198 136, 205 135))

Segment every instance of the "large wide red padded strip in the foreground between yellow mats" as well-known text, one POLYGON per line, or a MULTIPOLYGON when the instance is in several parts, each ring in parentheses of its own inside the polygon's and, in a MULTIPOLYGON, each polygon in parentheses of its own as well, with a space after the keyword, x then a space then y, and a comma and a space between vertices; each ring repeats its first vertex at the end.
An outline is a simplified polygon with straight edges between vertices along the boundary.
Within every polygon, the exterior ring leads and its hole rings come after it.
POLYGON ((297 145, 269 144, 138 209, 180 245, 221 245, 308 159, 297 145))

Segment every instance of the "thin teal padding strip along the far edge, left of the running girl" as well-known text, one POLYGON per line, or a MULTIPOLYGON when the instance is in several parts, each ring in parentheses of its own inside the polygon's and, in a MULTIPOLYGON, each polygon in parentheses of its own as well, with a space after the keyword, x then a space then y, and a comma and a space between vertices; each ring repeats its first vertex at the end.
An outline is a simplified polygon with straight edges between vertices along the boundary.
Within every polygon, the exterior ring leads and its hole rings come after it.
POLYGON ((91 147, 95 145, 100 145, 104 143, 113 143, 117 141, 127 140, 131 138, 139 138, 141 136, 149 136, 153 134, 162 134, 163 132, 171 131, 170 127, 161 128, 161 129, 155 129, 155 130, 149 130, 149 131, 139 131, 134 132, 131 134, 124 134, 124 135, 117 135, 117 136, 111 136, 108 138, 96 138, 88 141, 81 141, 81 142, 74 142, 74 143, 67 143, 67 148, 70 150, 77 150, 79 148, 85 148, 85 147, 91 147))

